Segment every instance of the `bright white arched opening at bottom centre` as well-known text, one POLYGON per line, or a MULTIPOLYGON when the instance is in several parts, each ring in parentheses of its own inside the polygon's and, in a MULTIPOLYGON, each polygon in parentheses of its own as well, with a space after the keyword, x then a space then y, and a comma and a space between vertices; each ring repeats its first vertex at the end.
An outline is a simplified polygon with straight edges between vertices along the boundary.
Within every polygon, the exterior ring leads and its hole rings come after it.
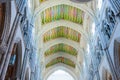
POLYGON ((53 72, 47 80, 75 80, 68 72, 64 70, 57 70, 53 72))

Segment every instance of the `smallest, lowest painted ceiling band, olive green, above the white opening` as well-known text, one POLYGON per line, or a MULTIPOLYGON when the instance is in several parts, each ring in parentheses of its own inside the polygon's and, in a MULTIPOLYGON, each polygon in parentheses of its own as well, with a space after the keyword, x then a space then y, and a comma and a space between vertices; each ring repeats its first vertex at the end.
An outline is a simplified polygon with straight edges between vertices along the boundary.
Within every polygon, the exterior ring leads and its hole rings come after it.
POLYGON ((47 65, 46 65, 46 68, 50 67, 50 66, 53 66, 57 63, 63 63, 63 64, 66 64, 68 66, 71 66, 73 68, 75 68, 75 63, 67 58, 64 58, 64 57, 58 57, 58 58, 55 58, 53 59, 52 61, 50 61, 47 65))

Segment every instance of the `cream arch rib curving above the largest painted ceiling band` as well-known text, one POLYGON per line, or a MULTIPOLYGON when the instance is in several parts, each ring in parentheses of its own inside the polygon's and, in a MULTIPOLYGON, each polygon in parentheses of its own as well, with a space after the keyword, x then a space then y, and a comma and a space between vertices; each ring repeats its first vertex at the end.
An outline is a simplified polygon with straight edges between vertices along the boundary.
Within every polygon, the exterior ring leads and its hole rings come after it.
POLYGON ((42 4, 35 10, 34 17, 36 17, 37 15, 39 15, 39 13, 41 13, 41 12, 44 11, 45 9, 47 9, 47 8, 49 8, 49 7, 52 7, 52 6, 60 5, 60 4, 70 5, 70 6, 79 8, 79 9, 81 9, 82 11, 87 12, 87 14, 89 14, 92 18, 94 18, 94 13, 93 13, 93 11, 92 11, 90 8, 88 8, 86 5, 84 5, 84 4, 77 4, 77 3, 71 2, 71 1, 69 1, 69 0, 58 0, 58 1, 53 0, 52 3, 51 3, 51 1, 46 1, 46 2, 42 3, 42 4), (48 4, 49 4, 49 5, 48 5, 48 4))

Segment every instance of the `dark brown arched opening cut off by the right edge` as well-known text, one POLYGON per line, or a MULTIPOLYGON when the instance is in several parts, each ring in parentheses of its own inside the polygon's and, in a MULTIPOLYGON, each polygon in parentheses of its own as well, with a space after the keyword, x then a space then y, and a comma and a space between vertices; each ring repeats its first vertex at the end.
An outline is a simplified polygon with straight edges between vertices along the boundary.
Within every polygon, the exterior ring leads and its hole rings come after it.
POLYGON ((118 76, 120 76, 120 38, 114 41, 114 64, 118 76))

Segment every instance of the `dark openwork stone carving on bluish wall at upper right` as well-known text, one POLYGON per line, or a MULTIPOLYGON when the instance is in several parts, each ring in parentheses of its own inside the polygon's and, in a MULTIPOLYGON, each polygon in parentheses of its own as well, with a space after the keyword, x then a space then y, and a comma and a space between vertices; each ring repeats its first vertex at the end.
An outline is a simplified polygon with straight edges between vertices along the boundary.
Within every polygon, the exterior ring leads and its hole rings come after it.
POLYGON ((116 18, 114 12, 110 8, 107 8, 106 19, 102 21, 102 29, 101 29, 103 34, 106 36, 107 40, 109 40, 112 35, 115 23, 116 23, 116 18))

